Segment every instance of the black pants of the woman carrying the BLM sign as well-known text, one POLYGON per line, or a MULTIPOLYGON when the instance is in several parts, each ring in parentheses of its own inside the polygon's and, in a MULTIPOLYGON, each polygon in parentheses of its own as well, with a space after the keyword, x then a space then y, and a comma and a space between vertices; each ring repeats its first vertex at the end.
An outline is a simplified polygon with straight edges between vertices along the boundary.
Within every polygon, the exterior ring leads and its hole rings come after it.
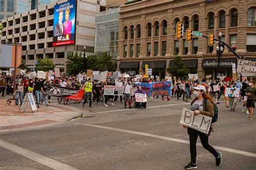
POLYGON ((198 135, 203 147, 207 151, 211 152, 215 158, 219 156, 219 153, 211 145, 208 144, 208 136, 205 133, 199 132, 190 127, 187 127, 187 131, 188 131, 188 134, 190 135, 190 157, 191 157, 191 162, 193 164, 196 164, 196 158, 197 158, 196 144, 197 144, 198 135))

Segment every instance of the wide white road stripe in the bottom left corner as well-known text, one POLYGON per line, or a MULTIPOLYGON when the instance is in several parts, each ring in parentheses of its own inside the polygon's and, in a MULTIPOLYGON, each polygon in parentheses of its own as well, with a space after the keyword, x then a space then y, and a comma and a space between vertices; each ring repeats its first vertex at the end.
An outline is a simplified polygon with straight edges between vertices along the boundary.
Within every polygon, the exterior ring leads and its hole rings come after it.
POLYGON ((28 150, 26 150, 22 147, 12 145, 12 144, 10 144, 8 142, 5 142, 5 141, 2 141, 2 140, 0 140, 0 146, 5 148, 5 149, 8 149, 9 151, 20 154, 23 157, 32 159, 32 160, 34 160, 34 161, 36 161, 40 164, 43 164, 43 165, 48 166, 48 167, 53 168, 53 169, 67 169, 67 170, 68 169, 71 169, 71 170, 76 169, 76 168, 73 168, 73 167, 68 166, 66 164, 63 164, 61 162, 58 162, 56 160, 44 157, 43 155, 37 154, 35 152, 28 151, 28 150))

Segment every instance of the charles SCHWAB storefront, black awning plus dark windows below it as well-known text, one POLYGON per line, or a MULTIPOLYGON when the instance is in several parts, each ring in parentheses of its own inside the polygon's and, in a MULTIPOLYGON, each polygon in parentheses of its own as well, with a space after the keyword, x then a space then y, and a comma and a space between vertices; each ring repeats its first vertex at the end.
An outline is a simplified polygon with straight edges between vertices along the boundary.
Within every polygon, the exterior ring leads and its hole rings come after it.
POLYGON ((212 75, 212 79, 218 79, 221 76, 232 77, 232 64, 237 63, 237 58, 221 58, 220 67, 218 59, 203 59, 203 77, 212 75))

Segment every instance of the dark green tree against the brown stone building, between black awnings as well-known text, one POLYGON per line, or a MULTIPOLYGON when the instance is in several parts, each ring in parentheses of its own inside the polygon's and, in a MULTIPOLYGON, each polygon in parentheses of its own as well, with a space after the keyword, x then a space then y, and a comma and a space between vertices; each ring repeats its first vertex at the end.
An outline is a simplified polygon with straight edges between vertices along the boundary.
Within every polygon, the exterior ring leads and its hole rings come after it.
POLYGON ((188 73, 190 73, 190 69, 186 68, 186 64, 182 62, 180 56, 174 57, 173 60, 173 64, 175 67, 168 67, 166 69, 166 71, 171 73, 172 76, 182 78, 184 76, 187 76, 188 73))

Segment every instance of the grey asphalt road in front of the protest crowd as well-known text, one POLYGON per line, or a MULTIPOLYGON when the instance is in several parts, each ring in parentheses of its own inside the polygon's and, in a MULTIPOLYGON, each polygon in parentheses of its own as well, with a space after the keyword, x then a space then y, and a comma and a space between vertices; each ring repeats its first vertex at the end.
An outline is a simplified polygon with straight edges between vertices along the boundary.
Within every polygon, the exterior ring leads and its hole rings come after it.
MULTIPOLYGON (((255 118, 248 120, 241 105, 236 112, 218 105, 210 144, 223 153, 223 164, 216 167, 213 156, 198 146, 198 169, 256 169, 255 118)), ((120 103, 70 106, 95 117, 0 131, 0 169, 183 169, 190 161, 188 135, 179 124, 189 103, 173 98, 149 99, 146 109, 120 103)))

